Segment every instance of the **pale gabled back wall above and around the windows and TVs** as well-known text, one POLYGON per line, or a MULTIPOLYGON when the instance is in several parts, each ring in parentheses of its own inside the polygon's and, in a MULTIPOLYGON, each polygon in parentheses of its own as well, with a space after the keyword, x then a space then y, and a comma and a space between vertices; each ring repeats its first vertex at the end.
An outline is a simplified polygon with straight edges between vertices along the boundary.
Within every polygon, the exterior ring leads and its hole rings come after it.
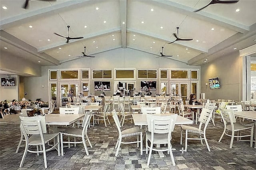
MULTIPOLYGON (((186 63, 175 61, 164 57, 156 58, 156 55, 145 53, 142 51, 118 48, 104 53, 96 54, 95 58, 83 57, 69 62, 62 63, 58 66, 42 67, 41 77, 26 77, 24 79, 25 91, 28 92, 28 99, 34 101, 37 98, 42 98, 48 101, 48 69, 113 69, 114 68, 135 68, 135 69, 200 69, 200 66, 189 66, 186 63), (45 87, 42 87, 45 85, 45 87)), ((136 74, 137 76, 137 74, 136 74)), ((90 77, 92 77, 90 75, 90 77)), ((114 75, 113 75, 114 77, 114 75)), ((154 79, 155 80, 155 79, 154 79)), ((91 83, 95 80, 90 80, 91 83)), ((114 78, 110 80, 111 86, 114 85, 114 78)), ((140 89, 140 79, 136 80, 136 89, 140 89)), ((159 83, 159 79, 157 79, 159 83)), ((159 87, 159 84, 157 84, 159 87)), ((113 87, 110 92, 105 92, 106 95, 113 95, 113 87)), ((90 93, 99 95, 101 92, 95 92, 94 86, 90 86, 90 93)))

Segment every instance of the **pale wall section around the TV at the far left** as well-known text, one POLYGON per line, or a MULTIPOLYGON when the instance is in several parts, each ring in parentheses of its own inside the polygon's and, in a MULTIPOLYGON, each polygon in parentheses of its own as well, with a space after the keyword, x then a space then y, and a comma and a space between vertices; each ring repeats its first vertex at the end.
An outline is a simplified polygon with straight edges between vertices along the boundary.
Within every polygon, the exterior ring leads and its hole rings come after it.
MULTIPOLYGON (((0 75, 0 77, 8 77, 6 75, 0 75)), ((18 85, 19 85, 19 76, 16 74, 10 75, 10 77, 14 77, 15 86, 10 87, 2 87, 0 86, 0 101, 12 101, 13 99, 19 100, 18 97, 18 85)))

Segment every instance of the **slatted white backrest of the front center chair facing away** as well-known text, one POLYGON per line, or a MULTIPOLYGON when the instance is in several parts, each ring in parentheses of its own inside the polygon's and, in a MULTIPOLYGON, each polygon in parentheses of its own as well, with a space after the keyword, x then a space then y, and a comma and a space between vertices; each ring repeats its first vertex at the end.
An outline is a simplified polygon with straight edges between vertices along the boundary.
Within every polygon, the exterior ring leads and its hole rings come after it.
POLYGON ((168 139, 170 140, 170 134, 174 130, 177 116, 177 114, 170 116, 147 115, 148 131, 150 131, 152 135, 154 135, 154 133, 169 133, 168 139))

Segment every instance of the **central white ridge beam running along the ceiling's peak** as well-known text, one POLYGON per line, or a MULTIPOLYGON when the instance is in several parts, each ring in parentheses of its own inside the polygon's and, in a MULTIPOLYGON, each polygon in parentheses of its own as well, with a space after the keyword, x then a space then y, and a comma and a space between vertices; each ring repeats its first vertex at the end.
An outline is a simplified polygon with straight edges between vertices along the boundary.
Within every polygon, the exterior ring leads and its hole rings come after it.
POLYGON ((126 48, 127 0, 119 0, 119 5, 120 5, 122 47, 126 48))

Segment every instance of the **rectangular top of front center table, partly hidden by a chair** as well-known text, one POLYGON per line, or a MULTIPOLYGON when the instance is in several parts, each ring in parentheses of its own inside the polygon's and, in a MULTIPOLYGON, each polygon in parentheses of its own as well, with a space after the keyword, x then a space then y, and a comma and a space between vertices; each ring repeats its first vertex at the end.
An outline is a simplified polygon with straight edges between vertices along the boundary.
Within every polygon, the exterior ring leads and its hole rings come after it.
MULTIPOLYGON (((174 114, 154 114, 157 116, 169 116, 169 115, 174 115, 174 114)), ((147 114, 133 114, 132 115, 134 125, 148 125, 147 122, 147 114)), ((178 115, 175 125, 183 125, 183 124, 193 124, 193 121, 184 117, 181 117, 178 115)))

